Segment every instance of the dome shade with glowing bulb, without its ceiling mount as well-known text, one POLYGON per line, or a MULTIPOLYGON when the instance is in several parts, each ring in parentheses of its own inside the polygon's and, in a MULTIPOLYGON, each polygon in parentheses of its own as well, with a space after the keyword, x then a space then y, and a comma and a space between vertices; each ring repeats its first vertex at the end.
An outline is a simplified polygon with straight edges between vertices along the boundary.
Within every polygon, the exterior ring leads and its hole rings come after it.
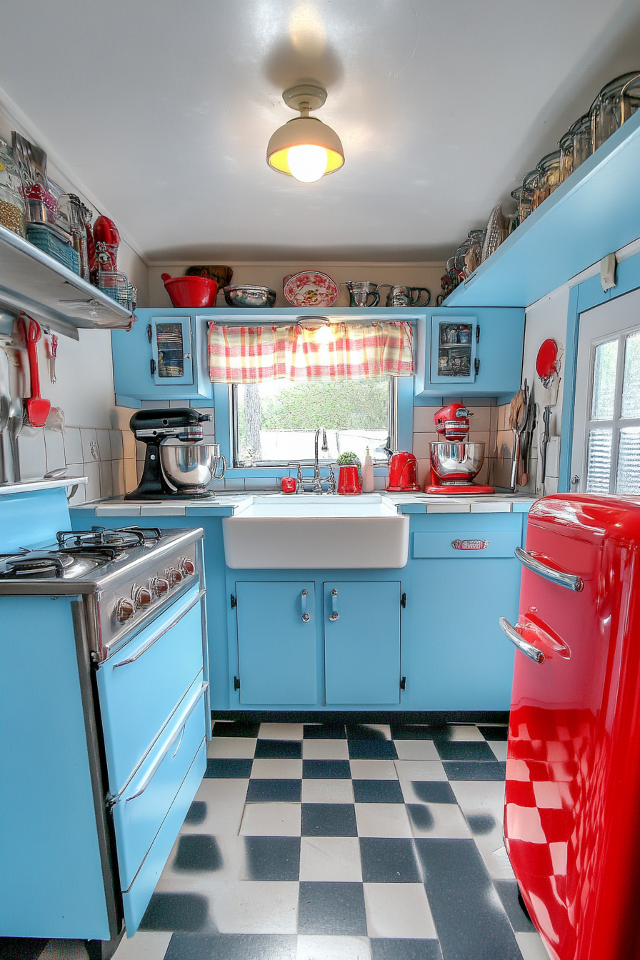
POLYGON ((338 134, 316 117, 296 117, 273 133, 267 162, 279 173, 310 183, 343 166, 343 145, 338 134))

